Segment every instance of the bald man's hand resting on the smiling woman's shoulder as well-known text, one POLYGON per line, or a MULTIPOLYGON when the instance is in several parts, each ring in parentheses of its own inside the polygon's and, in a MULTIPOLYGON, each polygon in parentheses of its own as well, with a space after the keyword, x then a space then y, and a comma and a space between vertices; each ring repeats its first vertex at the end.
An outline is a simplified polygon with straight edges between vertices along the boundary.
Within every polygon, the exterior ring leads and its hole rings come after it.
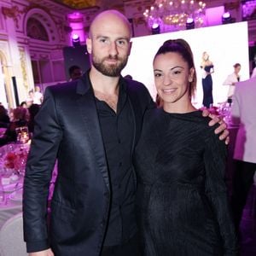
POLYGON ((205 117, 209 117, 212 120, 209 122, 209 125, 215 125, 215 124, 219 124, 218 128, 215 129, 215 134, 220 134, 219 139, 220 140, 225 140, 225 144, 228 145, 230 143, 230 137, 229 134, 230 132, 228 131, 227 127, 228 125, 226 125, 226 123, 224 122, 223 119, 218 118, 218 116, 214 113, 210 113, 208 109, 203 109, 202 115, 205 117))

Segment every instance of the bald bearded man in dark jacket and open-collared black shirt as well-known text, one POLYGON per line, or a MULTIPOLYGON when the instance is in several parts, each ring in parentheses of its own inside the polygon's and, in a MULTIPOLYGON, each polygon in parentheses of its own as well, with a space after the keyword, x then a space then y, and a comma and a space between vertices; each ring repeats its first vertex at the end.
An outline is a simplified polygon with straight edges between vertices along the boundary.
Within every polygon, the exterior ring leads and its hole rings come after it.
POLYGON ((86 41, 90 71, 45 91, 24 183, 25 241, 28 252, 38 252, 31 256, 139 255, 131 159, 143 114, 154 102, 143 84, 120 76, 130 39, 124 15, 114 10, 97 15, 86 41), (58 177, 47 230, 55 159, 58 177))

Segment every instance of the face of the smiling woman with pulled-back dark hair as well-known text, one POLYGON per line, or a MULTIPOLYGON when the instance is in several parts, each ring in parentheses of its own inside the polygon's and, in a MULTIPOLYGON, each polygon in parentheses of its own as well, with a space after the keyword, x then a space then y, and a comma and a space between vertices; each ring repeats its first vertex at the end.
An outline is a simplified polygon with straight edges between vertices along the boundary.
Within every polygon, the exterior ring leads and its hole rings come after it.
POLYGON ((194 68, 175 52, 157 55, 154 59, 154 83, 165 104, 180 101, 190 102, 189 82, 192 82, 194 68))

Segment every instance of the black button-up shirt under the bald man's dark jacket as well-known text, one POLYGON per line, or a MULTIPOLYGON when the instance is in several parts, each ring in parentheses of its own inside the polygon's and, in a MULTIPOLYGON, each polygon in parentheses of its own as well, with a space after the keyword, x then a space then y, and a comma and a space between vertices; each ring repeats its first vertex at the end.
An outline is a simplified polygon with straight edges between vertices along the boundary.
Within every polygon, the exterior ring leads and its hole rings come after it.
POLYGON ((112 190, 107 234, 103 246, 128 241, 137 231, 135 218, 136 177, 131 165, 134 119, 125 83, 119 83, 117 113, 96 98, 96 108, 108 161, 112 190))

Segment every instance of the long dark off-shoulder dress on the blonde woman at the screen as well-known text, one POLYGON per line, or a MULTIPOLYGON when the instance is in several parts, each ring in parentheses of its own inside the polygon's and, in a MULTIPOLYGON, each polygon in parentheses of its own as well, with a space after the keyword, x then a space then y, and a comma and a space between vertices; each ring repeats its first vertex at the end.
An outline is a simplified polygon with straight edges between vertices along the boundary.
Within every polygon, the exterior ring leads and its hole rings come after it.
MULTIPOLYGON (((204 67, 205 71, 209 73, 213 68, 213 65, 204 67)), ((212 98, 212 75, 207 74, 205 79, 201 79, 202 87, 203 87, 203 105, 207 108, 213 103, 212 98)))

